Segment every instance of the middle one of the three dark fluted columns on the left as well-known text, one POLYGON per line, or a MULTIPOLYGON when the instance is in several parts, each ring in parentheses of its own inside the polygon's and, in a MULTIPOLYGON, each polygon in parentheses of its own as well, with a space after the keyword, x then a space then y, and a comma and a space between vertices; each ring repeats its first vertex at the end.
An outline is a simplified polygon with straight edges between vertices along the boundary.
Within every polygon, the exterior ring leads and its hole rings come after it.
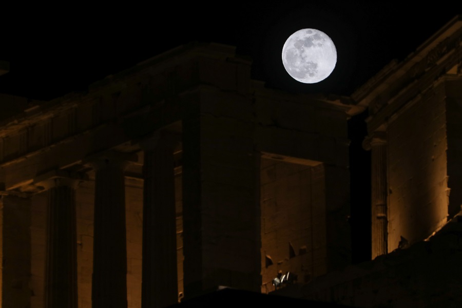
POLYGON ((126 162, 111 155, 92 162, 95 170, 92 306, 127 307, 125 225, 126 162))

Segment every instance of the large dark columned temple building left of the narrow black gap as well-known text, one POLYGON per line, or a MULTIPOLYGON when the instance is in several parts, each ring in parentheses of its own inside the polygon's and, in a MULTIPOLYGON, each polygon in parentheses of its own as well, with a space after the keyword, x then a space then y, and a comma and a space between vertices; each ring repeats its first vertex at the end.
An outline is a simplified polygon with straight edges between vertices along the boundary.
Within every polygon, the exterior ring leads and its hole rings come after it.
MULTIPOLYGON (((347 120, 367 95, 288 94, 250 70, 233 47, 191 45, 51 101, 1 95, 1 306, 165 307, 350 264, 347 120)), ((440 203, 389 247, 440 226, 440 203)))

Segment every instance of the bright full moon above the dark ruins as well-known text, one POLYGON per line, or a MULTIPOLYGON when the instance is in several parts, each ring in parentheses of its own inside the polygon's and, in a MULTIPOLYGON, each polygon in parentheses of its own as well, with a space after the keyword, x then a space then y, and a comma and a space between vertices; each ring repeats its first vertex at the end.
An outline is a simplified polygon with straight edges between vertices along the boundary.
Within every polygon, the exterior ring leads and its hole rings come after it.
POLYGON ((332 73, 337 50, 331 38, 316 29, 301 29, 287 38, 282 47, 282 64, 293 79, 317 83, 332 73))

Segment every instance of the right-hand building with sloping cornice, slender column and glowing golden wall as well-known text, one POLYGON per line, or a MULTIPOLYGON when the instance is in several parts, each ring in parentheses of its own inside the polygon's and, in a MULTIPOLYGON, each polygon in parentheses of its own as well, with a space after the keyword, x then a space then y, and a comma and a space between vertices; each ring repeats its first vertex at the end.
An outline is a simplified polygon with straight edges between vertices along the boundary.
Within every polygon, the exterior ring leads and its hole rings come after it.
POLYGON ((428 238, 460 210, 461 42, 456 17, 352 95, 369 108, 373 258, 428 238))

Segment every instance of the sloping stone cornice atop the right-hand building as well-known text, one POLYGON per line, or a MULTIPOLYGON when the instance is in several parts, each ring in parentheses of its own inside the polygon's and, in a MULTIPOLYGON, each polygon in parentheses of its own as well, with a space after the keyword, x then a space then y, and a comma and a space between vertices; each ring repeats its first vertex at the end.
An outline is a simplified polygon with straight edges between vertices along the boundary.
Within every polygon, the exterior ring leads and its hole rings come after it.
POLYGON ((359 106, 369 107, 368 131, 376 130, 461 62, 462 15, 457 15, 404 61, 391 62, 352 94, 359 106))

